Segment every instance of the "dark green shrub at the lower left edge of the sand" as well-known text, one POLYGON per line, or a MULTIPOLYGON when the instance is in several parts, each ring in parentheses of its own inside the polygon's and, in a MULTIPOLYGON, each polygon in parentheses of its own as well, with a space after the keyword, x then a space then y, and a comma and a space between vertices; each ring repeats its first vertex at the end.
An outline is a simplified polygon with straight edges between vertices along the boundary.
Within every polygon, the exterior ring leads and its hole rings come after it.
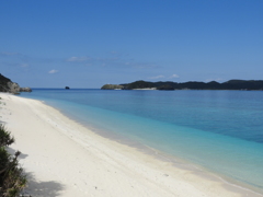
POLYGON ((20 166, 16 151, 14 155, 8 152, 8 147, 14 142, 10 131, 0 124, 0 196, 15 197, 26 186, 26 177, 20 166))

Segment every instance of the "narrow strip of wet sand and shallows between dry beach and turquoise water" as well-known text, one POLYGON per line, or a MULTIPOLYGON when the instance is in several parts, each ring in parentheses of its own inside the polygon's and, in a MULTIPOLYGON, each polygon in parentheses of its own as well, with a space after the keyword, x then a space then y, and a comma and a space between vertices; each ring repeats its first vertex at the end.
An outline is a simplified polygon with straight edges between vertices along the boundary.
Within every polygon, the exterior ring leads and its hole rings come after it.
MULTIPOLYGON (((38 101, 41 101, 41 100, 38 100, 38 101)), ((194 173, 194 174, 196 174, 196 175, 198 175, 198 176, 201 176, 205 179, 207 178, 207 179, 213 179, 213 181, 216 181, 216 182, 224 183, 224 184, 226 184, 226 187, 230 190, 236 190, 236 192, 240 192, 240 193, 247 193, 248 192, 250 194, 255 194, 255 195, 263 196, 263 190, 260 189, 259 187, 239 182, 239 181, 237 181, 235 178, 231 178, 231 177, 228 177, 224 174, 219 174, 218 172, 214 172, 210 169, 198 165, 197 163, 193 163, 192 161, 188 161, 186 159, 174 157, 174 155, 169 154, 167 152, 160 151, 158 149, 155 149, 152 147, 144 144, 140 141, 136 141, 134 139, 127 138, 124 135, 113 134, 111 131, 106 131, 105 128, 98 127, 98 126, 91 125, 91 124, 85 124, 82 120, 75 117, 73 115, 67 114, 67 112, 65 112, 65 109, 62 109, 62 108, 59 108, 55 105, 50 105, 45 101, 42 101, 42 102, 45 105, 48 105, 48 106, 57 109, 58 112, 60 112, 66 117, 68 117, 71 120, 80 124, 81 126, 88 128, 92 132, 94 132, 94 134, 96 134, 96 135, 99 135, 103 138, 116 141, 118 143, 122 143, 122 144, 125 144, 125 146, 128 146, 128 147, 132 147, 132 148, 136 148, 138 151, 140 151, 142 153, 155 157, 158 160, 169 162, 172 165, 174 165, 175 167, 191 171, 192 173, 194 173)))

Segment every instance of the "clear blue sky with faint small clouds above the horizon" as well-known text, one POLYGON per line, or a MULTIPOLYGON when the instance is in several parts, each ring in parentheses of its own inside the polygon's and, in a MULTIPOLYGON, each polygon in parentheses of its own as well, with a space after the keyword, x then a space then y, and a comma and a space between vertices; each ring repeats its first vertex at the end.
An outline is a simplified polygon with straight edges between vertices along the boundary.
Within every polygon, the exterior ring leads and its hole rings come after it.
POLYGON ((0 0, 0 73, 31 88, 263 80, 263 1, 0 0))

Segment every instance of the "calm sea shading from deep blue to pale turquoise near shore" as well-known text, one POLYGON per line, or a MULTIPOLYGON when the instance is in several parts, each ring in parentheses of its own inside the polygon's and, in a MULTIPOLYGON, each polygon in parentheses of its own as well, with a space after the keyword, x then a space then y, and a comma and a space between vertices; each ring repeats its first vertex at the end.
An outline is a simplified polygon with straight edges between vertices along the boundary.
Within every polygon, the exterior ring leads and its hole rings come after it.
POLYGON ((21 96, 263 193, 263 91, 34 89, 21 96))

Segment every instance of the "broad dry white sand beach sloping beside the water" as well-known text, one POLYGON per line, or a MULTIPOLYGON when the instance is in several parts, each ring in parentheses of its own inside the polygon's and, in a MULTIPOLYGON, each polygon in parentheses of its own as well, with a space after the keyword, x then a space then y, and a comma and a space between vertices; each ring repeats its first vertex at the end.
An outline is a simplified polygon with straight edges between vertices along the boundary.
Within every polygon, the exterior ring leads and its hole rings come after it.
POLYGON ((103 138, 39 101, 0 97, 34 197, 256 196, 103 138))

